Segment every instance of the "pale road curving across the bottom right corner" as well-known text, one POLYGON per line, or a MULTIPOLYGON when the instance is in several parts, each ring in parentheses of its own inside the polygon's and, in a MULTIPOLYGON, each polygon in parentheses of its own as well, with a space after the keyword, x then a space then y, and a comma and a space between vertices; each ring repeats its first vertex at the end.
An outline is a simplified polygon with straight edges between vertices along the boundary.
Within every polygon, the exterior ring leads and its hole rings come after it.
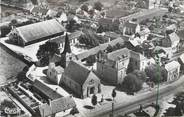
MULTIPOLYGON (((176 93, 184 83, 184 76, 180 77, 180 79, 176 80, 175 82, 164 85, 160 87, 159 91, 159 99, 162 97, 166 97, 170 94, 176 93)), ((156 101, 157 98, 157 88, 153 89, 152 91, 148 91, 146 93, 142 93, 137 95, 134 100, 129 102, 116 102, 114 105, 114 117, 117 115, 124 115, 125 113, 131 113, 136 111, 139 108, 139 105, 150 104, 156 101)), ((111 104, 108 107, 96 110, 94 112, 90 112, 86 115, 86 117, 109 117, 111 114, 111 104)))

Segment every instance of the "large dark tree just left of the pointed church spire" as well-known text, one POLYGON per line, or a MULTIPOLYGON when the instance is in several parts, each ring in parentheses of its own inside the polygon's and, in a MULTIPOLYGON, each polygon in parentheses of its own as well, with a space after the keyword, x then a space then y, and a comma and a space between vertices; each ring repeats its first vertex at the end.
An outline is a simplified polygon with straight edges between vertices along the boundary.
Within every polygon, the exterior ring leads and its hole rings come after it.
POLYGON ((41 65, 45 66, 49 64, 49 57, 59 53, 59 45, 55 42, 47 41, 39 46, 36 56, 40 60, 41 65))

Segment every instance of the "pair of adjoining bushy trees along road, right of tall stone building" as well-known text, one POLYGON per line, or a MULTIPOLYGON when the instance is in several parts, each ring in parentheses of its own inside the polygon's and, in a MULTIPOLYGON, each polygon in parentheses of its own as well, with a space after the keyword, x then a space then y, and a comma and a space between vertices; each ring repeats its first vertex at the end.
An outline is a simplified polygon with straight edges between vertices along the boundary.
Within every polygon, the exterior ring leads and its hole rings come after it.
POLYGON ((150 65, 145 68, 145 71, 139 71, 130 59, 127 76, 125 76, 120 88, 125 92, 137 92, 142 89, 144 82, 157 84, 165 81, 167 81, 167 70, 163 66, 150 65))

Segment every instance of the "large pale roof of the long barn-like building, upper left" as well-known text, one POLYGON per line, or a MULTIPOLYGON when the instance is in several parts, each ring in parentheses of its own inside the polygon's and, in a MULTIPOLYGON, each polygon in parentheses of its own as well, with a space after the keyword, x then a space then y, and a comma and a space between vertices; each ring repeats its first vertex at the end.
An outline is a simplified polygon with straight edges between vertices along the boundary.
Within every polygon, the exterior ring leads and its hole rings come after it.
POLYGON ((51 19, 17 27, 16 30, 25 42, 30 42, 56 34, 61 35, 65 28, 56 19, 51 19))

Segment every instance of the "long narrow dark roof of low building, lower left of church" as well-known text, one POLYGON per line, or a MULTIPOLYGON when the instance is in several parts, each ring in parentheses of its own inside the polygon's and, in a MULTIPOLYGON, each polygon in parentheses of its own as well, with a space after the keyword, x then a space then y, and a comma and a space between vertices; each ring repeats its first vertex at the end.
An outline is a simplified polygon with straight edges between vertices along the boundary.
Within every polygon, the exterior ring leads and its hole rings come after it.
POLYGON ((58 99, 63 97, 59 93, 57 93, 55 90, 48 87, 46 84, 39 80, 35 80, 33 83, 33 86, 39 90, 41 93, 43 93, 45 96, 49 97, 51 100, 58 99))

